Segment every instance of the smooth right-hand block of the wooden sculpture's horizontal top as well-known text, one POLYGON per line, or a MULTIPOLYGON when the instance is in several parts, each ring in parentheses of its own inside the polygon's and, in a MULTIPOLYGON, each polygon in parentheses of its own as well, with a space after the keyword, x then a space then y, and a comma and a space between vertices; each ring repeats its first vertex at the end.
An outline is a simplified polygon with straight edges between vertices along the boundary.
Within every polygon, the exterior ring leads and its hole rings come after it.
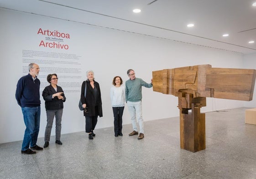
POLYGON ((251 101, 254 91, 256 70, 209 68, 206 73, 206 89, 210 97, 251 101))

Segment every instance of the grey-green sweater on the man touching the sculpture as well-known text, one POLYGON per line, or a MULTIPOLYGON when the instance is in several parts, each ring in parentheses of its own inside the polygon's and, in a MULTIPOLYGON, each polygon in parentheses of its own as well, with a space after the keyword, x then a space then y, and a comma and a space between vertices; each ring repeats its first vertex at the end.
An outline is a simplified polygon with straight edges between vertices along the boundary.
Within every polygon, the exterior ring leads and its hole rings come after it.
POLYGON ((141 78, 127 80, 125 82, 125 101, 138 102, 142 99, 141 86, 152 87, 151 83, 144 82, 141 78))

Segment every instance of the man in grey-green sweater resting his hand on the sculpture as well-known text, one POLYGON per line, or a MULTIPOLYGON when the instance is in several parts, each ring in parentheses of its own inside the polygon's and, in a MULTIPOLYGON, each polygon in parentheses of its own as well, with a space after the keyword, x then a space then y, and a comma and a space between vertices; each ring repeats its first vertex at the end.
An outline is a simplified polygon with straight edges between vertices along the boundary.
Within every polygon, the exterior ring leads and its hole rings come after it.
POLYGON ((129 133, 129 136, 138 135, 138 129, 136 124, 136 119, 138 120, 140 126, 140 134, 138 139, 144 138, 144 126, 143 126, 143 118, 142 118, 142 93, 141 87, 152 87, 152 79, 151 83, 144 82, 141 78, 135 77, 135 72, 132 69, 127 71, 129 80, 125 82, 125 101, 128 106, 129 113, 131 115, 131 124, 133 131, 129 133))

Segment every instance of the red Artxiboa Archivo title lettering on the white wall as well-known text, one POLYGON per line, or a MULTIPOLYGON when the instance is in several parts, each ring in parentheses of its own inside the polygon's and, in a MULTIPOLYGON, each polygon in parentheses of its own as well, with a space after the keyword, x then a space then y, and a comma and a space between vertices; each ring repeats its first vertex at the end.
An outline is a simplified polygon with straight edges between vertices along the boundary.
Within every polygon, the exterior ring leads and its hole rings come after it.
POLYGON ((64 38, 70 39, 69 34, 59 32, 57 30, 49 31, 42 30, 41 28, 37 31, 37 34, 41 34, 43 36, 47 36, 45 40, 47 41, 53 41, 53 42, 45 42, 41 41, 39 46, 48 47, 48 48, 59 48, 59 49, 65 49, 68 50, 69 46, 67 44, 63 44, 64 38))

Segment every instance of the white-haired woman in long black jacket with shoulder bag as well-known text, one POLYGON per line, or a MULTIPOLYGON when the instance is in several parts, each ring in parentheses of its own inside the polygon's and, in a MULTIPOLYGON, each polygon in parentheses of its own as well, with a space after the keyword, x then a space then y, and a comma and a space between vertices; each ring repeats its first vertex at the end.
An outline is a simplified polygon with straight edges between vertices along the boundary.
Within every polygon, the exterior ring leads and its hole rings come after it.
POLYGON ((98 122, 98 116, 102 117, 102 102, 99 83, 94 81, 94 72, 86 72, 87 80, 81 87, 81 102, 84 107, 85 132, 89 133, 89 139, 94 139, 94 128, 98 122), (85 91, 86 90, 86 91, 85 91))

